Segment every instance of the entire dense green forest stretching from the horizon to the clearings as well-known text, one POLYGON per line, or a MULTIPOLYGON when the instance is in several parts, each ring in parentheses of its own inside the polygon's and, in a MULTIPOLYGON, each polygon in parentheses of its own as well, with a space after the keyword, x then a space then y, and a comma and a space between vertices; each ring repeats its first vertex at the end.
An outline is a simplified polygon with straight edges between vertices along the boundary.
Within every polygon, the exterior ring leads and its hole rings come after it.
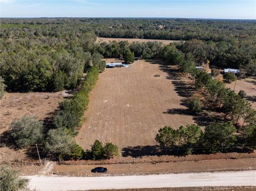
POLYGON ((192 54, 216 67, 236 68, 256 76, 255 20, 38 18, 2 19, 0 75, 8 91, 58 91, 77 87, 103 57, 134 53, 142 59, 174 63, 172 53, 192 54), (99 37, 186 40, 163 46, 157 42, 113 41, 99 37))

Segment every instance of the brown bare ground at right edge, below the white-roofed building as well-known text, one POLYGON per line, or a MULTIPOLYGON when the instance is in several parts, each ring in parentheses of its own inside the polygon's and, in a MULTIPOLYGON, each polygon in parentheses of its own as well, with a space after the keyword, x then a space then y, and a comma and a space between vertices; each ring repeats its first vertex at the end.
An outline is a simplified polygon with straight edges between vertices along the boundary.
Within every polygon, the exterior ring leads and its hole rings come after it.
POLYGON ((253 109, 256 110, 256 81, 253 82, 254 80, 251 79, 250 81, 252 82, 247 82, 246 80, 249 81, 249 79, 237 80, 236 82, 234 81, 231 84, 227 84, 226 86, 231 89, 234 89, 235 87, 236 93, 239 93, 240 90, 244 90, 244 92, 247 94, 246 99, 251 102, 253 109))

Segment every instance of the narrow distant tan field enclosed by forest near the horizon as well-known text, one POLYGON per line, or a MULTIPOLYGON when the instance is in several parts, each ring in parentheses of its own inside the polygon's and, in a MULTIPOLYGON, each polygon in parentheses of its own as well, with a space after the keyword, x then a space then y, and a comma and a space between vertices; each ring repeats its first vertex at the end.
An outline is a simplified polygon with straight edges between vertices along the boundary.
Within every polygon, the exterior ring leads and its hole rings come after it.
POLYGON ((109 43, 109 41, 114 41, 114 40, 116 40, 118 42, 127 40, 128 43, 133 43, 133 42, 142 43, 142 42, 147 42, 147 41, 158 41, 158 42, 163 43, 163 45, 169 45, 170 43, 182 42, 181 40, 158 40, 158 39, 140 39, 140 38, 101 38, 101 37, 98 37, 96 42, 97 43, 102 43, 102 42, 109 43))

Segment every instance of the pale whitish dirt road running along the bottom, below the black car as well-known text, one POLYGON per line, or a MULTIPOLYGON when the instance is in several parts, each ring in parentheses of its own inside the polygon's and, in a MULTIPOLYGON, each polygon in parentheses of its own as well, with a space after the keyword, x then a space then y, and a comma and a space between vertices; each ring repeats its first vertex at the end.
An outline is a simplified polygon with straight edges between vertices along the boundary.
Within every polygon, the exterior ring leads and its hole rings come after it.
POLYGON ((256 186, 256 171, 186 173, 148 176, 38 177, 28 176, 30 188, 89 190, 199 186, 256 186))

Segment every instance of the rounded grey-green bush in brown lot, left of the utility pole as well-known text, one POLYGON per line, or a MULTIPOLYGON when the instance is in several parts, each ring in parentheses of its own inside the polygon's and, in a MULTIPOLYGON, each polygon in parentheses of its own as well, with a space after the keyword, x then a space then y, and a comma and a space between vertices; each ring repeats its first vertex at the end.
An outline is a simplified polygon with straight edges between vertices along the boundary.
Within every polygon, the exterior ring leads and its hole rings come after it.
POLYGON ((25 116, 20 120, 14 120, 10 125, 10 135, 15 146, 23 148, 43 139, 43 122, 34 116, 25 116))

